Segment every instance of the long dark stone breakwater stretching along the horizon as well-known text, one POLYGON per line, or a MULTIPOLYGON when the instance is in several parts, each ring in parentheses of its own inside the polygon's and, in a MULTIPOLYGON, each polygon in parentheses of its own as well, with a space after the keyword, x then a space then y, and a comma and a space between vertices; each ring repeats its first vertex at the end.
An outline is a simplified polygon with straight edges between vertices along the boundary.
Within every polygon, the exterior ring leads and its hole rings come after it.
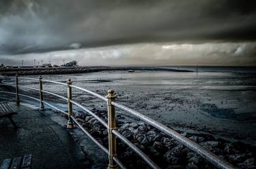
POLYGON ((124 67, 35 67, 35 68, 10 68, 0 69, 0 74, 4 76, 13 75, 53 75, 53 74, 71 74, 71 73, 91 73, 98 71, 175 71, 192 72, 182 69, 169 69, 165 67, 142 67, 142 66, 124 66, 124 67))

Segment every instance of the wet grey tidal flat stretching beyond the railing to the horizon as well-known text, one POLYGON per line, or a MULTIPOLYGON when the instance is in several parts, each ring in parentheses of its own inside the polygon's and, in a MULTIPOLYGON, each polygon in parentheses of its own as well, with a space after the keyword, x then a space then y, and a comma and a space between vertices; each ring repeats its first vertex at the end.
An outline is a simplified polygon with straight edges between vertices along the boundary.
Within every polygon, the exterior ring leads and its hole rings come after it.
MULTIPOLYGON (((182 69, 193 70, 195 67, 182 69)), ((43 78, 61 82, 70 78, 74 85, 102 96, 113 89, 118 102, 176 130, 212 134, 256 145, 255 69, 202 67, 198 73, 102 71, 44 75, 43 78)), ((20 85, 38 87, 36 82, 25 80, 21 80, 20 85)), ((44 82, 44 90, 66 96, 65 86, 44 82)), ((48 94, 44 99, 63 109, 66 107, 63 100, 55 100, 48 94)), ((79 90, 73 90, 73 99, 89 109, 106 109, 104 101, 79 90)), ((117 113, 137 120, 118 109, 117 113)))

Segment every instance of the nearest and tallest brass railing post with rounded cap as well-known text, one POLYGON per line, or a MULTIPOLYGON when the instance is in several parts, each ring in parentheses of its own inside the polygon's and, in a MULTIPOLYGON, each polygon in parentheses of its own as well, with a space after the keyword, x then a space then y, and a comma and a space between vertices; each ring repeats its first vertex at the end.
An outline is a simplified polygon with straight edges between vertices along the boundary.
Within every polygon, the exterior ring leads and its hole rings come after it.
POLYGON ((114 90, 108 91, 108 100, 106 101, 108 107, 108 132, 109 132, 109 169, 116 169, 117 164, 114 162, 113 157, 117 155, 117 145, 115 135, 112 133, 112 130, 116 129, 115 121, 115 107, 111 105, 111 101, 115 100, 117 96, 115 95, 114 90))

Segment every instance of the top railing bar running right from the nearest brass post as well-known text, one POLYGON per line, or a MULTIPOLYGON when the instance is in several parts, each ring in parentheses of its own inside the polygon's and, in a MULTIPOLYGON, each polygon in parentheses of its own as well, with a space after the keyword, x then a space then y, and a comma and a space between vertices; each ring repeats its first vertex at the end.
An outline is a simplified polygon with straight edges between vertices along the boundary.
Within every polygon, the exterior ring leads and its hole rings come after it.
POLYGON ((221 159, 221 157, 218 157, 214 153, 204 149, 197 143, 194 143, 192 140, 189 140, 185 136, 182 136, 178 132, 175 132, 174 130, 171 130, 171 128, 168 128, 167 126, 164 126, 163 124, 160 124, 158 121, 155 121, 154 119, 151 119, 150 117, 147 117, 137 111, 134 111, 128 107, 125 107, 124 105, 120 105, 117 102, 111 102, 112 105, 115 107, 118 107, 119 109, 122 109, 124 111, 127 111, 128 113, 134 115, 135 117, 138 117, 139 119, 142 119, 143 121, 147 122, 147 124, 150 124, 157 128, 158 130, 165 132, 169 136, 173 137, 178 142, 182 143, 189 149, 195 151, 199 155, 201 155, 203 158, 207 159, 209 162, 214 164, 214 166, 217 166, 218 168, 225 168, 225 169, 233 169, 235 168, 233 165, 226 162, 224 159, 221 159))

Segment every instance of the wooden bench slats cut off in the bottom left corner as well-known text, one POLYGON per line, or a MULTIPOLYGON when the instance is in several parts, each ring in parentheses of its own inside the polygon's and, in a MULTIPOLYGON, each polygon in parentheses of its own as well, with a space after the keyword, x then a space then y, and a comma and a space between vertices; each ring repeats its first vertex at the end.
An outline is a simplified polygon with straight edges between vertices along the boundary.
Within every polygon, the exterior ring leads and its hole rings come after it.
POLYGON ((32 155, 3 159, 0 169, 31 169, 32 155))

